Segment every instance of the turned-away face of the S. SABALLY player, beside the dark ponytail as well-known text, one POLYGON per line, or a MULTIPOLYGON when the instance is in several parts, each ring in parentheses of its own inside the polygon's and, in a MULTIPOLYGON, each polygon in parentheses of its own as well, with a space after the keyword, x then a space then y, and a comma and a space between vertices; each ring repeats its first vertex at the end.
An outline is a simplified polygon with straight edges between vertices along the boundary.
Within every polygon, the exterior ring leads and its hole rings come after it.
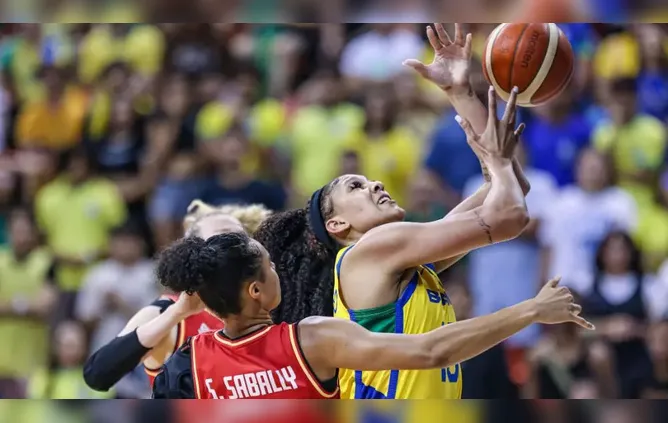
MULTIPOLYGON (((242 299, 243 308, 259 308, 260 311, 270 312, 281 303, 281 284, 276 273, 274 262, 269 253, 259 242, 251 241, 262 252, 262 281, 252 281, 242 299), (250 304, 249 304, 250 302, 250 304), (259 307, 258 307, 259 306, 259 307)), ((242 310, 242 313, 244 311, 242 310)))

